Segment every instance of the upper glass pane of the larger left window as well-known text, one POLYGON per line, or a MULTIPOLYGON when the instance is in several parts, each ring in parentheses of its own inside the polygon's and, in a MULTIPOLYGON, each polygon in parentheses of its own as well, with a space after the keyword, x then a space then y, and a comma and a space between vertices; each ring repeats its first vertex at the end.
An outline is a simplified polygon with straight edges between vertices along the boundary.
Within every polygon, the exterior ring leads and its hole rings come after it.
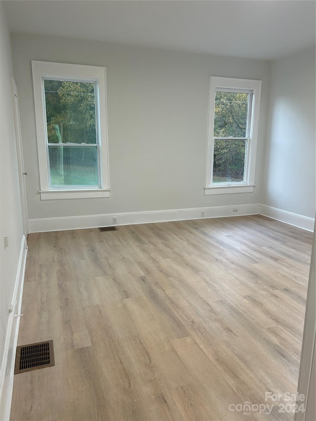
POLYGON ((96 144, 94 83, 44 80, 48 143, 96 144))

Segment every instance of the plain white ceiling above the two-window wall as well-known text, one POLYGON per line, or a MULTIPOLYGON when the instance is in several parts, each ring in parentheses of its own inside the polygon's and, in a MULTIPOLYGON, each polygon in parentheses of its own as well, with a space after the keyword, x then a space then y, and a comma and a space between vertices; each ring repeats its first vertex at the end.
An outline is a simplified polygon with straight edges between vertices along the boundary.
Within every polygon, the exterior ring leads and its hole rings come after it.
POLYGON ((315 44, 313 0, 5 1, 12 32, 274 59, 315 44))

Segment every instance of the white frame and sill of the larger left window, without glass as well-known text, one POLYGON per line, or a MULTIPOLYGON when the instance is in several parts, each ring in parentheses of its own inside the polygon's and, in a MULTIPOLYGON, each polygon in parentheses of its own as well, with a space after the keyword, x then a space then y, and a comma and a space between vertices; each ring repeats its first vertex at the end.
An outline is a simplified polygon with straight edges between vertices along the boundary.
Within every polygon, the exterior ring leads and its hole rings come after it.
POLYGON ((32 60, 36 131, 40 171, 40 199, 79 199, 110 196, 107 128, 106 68, 32 60), (89 187, 49 187, 44 79, 95 83, 96 130, 99 138, 99 183, 89 187))

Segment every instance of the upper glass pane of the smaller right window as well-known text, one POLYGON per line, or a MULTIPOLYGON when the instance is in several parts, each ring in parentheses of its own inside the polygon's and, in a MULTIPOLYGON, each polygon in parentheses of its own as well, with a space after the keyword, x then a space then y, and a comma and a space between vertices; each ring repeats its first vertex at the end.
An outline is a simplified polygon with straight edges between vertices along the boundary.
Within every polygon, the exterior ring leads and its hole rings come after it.
POLYGON ((246 137, 249 94, 216 92, 214 137, 246 137))

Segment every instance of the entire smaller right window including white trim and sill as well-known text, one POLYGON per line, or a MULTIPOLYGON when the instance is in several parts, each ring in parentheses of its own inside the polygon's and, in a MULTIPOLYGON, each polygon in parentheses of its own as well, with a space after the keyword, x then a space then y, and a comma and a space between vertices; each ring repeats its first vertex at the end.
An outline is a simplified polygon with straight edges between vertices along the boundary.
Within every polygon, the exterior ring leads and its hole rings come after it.
POLYGON ((211 77, 205 194, 253 191, 260 80, 211 77))

